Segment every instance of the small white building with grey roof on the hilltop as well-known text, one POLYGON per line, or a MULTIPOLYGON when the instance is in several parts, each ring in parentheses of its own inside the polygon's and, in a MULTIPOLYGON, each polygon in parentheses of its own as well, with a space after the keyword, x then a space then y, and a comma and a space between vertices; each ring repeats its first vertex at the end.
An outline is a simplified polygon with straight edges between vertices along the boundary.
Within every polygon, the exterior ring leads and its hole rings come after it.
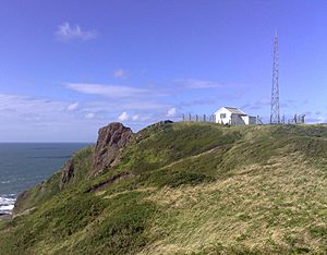
POLYGON ((215 112, 216 123, 230 125, 254 125, 256 117, 247 116, 245 112, 233 107, 221 107, 215 112))

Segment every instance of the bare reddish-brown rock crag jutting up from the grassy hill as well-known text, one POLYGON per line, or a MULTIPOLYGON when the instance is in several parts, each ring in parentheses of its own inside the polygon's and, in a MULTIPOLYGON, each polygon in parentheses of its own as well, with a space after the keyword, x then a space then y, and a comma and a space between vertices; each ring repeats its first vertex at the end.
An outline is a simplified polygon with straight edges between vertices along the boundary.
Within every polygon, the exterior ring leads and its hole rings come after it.
POLYGON ((93 174, 114 166, 119 160, 120 149, 125 147, 132 137, 132 130, 122 123, 113 122, 101 127, 94 153, 93 174))

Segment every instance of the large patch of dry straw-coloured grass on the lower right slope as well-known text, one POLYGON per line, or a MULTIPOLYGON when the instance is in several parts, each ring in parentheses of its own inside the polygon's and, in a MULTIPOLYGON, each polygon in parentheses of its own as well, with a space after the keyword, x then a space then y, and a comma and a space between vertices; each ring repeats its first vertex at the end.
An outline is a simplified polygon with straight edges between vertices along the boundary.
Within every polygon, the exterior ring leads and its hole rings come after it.
POLYGON ((316 251, 325 241, 310 229, 327 228, 327 181, 302 160, 299 155, 276 157, 264 167, 238 169, 223 181, 153 193, 147 199, 168 212, 152 229, 162 238, 141 254, 189 254, 216 244, 316 251))

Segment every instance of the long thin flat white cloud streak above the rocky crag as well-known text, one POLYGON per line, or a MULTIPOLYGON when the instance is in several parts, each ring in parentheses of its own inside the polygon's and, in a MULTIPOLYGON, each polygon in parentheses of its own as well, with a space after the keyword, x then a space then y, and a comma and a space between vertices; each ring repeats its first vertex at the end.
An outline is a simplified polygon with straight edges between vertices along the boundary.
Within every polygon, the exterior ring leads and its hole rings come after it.
POLYGON ((123 98, 123 97, 140 97, 156 95, 148 89, 142 89, 136 87, 118 86, 118 85, 104 85, 104 84, 88 84, 88 83, 66 83, 66 88, 74 92, 97 95, 111 98, 123 98))

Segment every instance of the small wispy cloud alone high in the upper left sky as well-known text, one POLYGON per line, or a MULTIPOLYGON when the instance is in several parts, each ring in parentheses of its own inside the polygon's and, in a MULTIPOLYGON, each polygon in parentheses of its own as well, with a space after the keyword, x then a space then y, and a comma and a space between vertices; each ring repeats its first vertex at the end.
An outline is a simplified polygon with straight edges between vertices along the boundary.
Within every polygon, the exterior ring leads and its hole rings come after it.
POLYGON ((95 31, 82 29, 80 25, 71 26, 68 22, 60 24, 55 35, 57 39, 61 41, 90 40, 97 37, 95 31))

